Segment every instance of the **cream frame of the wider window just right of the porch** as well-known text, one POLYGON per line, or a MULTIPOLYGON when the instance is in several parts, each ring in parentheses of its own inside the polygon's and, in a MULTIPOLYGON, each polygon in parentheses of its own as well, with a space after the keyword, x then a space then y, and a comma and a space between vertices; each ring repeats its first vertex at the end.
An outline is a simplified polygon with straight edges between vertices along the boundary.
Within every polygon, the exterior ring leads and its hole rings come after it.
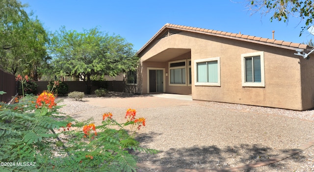
POLYGON ((205 59, 194 60, 194 85, 195 86, 221 86, 220 84, 220 57, 211 57, 205 59), (217 82, 198 82, 197 81, 197 64, 210 62, 210 61, 217 61, 217 82))

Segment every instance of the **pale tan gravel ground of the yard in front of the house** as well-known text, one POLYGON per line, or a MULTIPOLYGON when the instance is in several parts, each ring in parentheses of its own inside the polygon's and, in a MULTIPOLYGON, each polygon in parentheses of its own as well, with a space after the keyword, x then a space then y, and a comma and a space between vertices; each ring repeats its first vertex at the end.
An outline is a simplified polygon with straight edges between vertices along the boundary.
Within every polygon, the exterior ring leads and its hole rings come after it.
MULTIPOLYGON (((63 99, 58 104, 66 105, 61 112, 77 120, 92 117, 97 124, 101 123, 105 112, 111 112, 115 120, 124 122, 130 100, 135 104, 155 102, 157 107, 143 105, 136 108, 136 115, 145 117, 147 123, 136 139, 142 147, 154 148, 160 153, 137 153, 137 156, 140 163, 164 167, 212 169, 242 166, 267 160, 314 140, 314 110, 300 112, 208 101, 129 97, 111 95, 83 98, 83 101, 58 98, 63 99), (158 107, 164 101, 176 103, 158 107)), ((138 172, 161 171, 138 169, 138 172)), ((314 172, 314 147, 245 172, 314 172)))

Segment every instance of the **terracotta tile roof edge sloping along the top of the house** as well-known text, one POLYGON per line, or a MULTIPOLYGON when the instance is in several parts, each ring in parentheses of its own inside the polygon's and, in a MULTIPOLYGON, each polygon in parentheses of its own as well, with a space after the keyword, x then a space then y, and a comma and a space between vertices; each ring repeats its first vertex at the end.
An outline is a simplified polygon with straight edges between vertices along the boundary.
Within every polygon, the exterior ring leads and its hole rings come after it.
POLYGON ((166 24, 163 27, 161 27, 161 29, 159 29, 159 31, 141 49, 139 49, 137 51, 137 54, 139 54, 143 49, 145 49, 156 38, 158 38, 158 35, 160 35, 167 28, 181 30, 181 31, 201 33, 201 34, 218 36, 218 37, 224 37, 224 38, 229 38, 229 39, 236 39, 236 40, 247 41, 247 42, 252 42, 252 43, 257 43, 257 44, 280 47, 280 48, 284 48, 284 49, 292 49, 292 50, 304 49, 304 50, 306 50, 306 49, 311 48, 305 44, 292 43, 292 42, 275 40, 275 39, 268 39, 268 38, 261 38, 261 37, 257 37, 257 36, 251 36, 251 35, 243 35, 240 33, 231 33, 231 32, 211 30, 211 29, 205 29, 205 28, 199 28, 199 27, 191 27, 191 26, 185 26, 185 25, 166 24))

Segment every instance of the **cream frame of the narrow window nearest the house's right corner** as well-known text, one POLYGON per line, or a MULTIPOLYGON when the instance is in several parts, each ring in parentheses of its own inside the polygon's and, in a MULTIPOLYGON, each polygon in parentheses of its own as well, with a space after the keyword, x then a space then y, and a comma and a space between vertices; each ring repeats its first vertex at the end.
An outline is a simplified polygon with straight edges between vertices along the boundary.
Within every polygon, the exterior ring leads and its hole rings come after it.
MULTIPOLYGON (((264 52, 252 52, 241 54, 241 77, 242 77, 242 87, 265 87, 265 69, 264 69, 264 52), (245 59, 249 57, 260 56, 261 59, 261 82, 246 82, 246 67, 245 59)), ((254 69, 252 69, 254 71, 254 69)))

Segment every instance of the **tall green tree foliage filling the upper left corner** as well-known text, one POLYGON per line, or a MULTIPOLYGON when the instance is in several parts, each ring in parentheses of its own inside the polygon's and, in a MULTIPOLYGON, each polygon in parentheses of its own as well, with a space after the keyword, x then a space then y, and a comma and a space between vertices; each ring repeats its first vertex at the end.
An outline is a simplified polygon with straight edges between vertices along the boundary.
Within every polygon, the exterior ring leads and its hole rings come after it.
POLYGON ((35 80, 49 57, 48 34, 37 18, 30 18, 17 0, 0 0, 0 68, 27 74, 35 80))

